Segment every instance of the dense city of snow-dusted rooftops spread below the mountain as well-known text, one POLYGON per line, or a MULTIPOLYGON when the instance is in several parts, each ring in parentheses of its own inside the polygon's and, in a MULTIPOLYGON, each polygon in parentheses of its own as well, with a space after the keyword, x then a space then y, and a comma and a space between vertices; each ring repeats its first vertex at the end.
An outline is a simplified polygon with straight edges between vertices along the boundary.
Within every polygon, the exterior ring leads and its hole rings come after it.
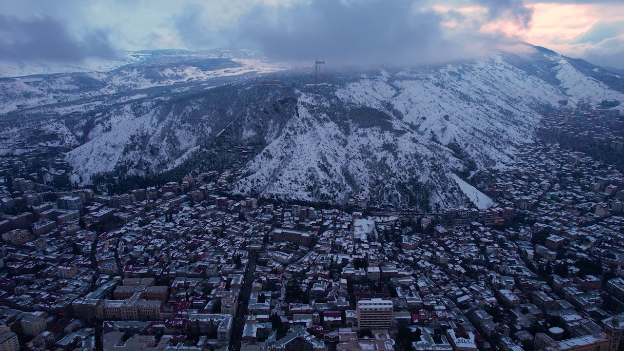
POLYGON ((543 114, 550 140, 466 179, 495 205, 432 213, 238 197, 236 171, 114 194, 27 141, 0 159, 0 350, 618 350, 620 111, 543 114))

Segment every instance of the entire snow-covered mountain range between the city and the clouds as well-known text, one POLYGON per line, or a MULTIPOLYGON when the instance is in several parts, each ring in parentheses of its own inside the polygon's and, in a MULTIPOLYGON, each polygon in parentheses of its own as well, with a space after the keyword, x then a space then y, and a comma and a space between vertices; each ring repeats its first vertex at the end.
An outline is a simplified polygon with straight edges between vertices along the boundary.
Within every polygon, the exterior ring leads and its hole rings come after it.
POLYGON ((67 159, 82 182, 105 172, 235 168, 243 171, 240 194, 487 207, 471 175, 513 164, 514 146, 532 139, 540 109, 561 99, 624 101, 622 76, 529 48, 439 67, 342 69, 333 72, 336 87, 309 86, 313 68, 248 52, 141 52, 110 71, 0 81, 0 107, 16 109, 6 121, 19 114, 29 128, 0 132, 0 146, 10 146, 16 130, 41 129, 45 112, 47 125, 61 124, 69 143, 80 144, 67 159), (281 79, 282 87, 259 87, 259 79, 281 79))

